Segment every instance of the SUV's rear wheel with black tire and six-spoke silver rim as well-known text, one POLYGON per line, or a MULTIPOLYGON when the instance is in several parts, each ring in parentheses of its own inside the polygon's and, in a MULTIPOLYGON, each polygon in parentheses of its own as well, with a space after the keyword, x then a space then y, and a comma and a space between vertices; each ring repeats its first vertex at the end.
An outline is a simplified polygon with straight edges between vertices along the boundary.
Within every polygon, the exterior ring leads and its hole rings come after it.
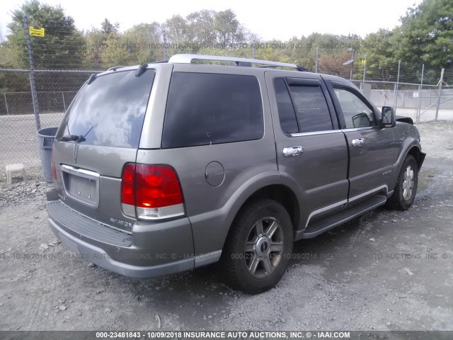
POLYGON ((292 254, 292 222, 275 200, 248 203, 235 218, 222 252, 222 269, 231 288, 249 294, 273 288, 292 254))

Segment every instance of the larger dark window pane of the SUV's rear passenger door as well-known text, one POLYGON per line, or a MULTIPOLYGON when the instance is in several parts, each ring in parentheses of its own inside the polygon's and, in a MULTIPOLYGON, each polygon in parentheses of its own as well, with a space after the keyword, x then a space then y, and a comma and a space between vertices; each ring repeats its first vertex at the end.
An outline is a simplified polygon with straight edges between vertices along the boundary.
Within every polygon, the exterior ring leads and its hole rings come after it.
POLYGON ((289 86, 296 109, 299 132, 332 130, 331 115, 321 86, 289 86))

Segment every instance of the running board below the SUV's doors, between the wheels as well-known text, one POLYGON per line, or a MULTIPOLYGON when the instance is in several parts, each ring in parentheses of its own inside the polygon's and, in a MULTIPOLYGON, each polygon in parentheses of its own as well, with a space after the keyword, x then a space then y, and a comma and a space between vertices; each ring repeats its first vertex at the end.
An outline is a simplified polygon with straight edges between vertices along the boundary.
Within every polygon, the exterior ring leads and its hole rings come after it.
POLYGON ((384 205, 385 202, 385 195, 372 196, 368 200, 351 205, 350 207, 340 210, 333 215, 328 215, 320 220, 311 222, 304 231, 297 232, 294 237, 294 241, 297 241, 298 239, 311 239, 311 237, 316 237, 323 232, 326 232, 334 227, 338 227, 338 225, 343 225, 344 223, 354 220, 366 212, 384 205))

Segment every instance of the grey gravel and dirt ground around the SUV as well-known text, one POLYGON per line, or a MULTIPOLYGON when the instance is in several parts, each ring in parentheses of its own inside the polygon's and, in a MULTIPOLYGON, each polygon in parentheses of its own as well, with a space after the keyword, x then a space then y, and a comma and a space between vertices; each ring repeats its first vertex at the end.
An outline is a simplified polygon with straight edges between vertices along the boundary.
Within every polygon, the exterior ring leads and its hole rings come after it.
POLYGON ((89 266, 47 227, 47 183, 2 178, 0 329, 453 330, 453 123, 419 128, 413 208, 297 242, 279 285, 256 296, 212 267, 137 280, 89 266))

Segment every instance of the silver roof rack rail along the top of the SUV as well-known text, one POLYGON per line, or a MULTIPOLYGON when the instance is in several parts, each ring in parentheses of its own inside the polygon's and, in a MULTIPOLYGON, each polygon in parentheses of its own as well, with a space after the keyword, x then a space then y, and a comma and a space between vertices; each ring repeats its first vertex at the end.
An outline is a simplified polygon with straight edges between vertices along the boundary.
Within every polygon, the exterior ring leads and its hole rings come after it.
POLYGON ((176 64, 191 64, 193 60, 212 60, 218 62, 234 62, 236 66, 251 67, 253 64, 258 64, 259 67, 288 67, 297 69, 298 71, 306 71, 304 67, 297 64, 288 64, 286 62, 269 62, 267 60, 248 59, 239 57, 222 57, 219 55, 173 55, 168 62, 176 64))

